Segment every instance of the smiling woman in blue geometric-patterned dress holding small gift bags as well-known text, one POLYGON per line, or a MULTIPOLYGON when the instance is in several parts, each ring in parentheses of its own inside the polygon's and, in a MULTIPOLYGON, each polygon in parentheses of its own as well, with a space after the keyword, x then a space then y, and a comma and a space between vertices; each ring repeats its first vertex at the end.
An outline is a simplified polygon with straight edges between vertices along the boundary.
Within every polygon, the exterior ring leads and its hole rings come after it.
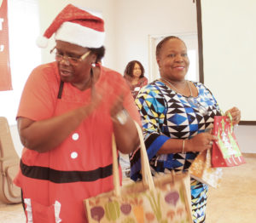
MULTIPOLYGON (((188 171, 201 151, 212 147, 213 117, 221 115, 217 101, 202 83, 187 81, 189 58, 185 43, 166 37, 156 47, 160 79, 149 83, 137 95, 143 133, 152 172, 188 171)), ((233 123, 241 113, 229 110, 233 123)), ((131 179, 140 174, 139 152, 131 154, 131 179)), ((205 222, 207 185, 191 179, 192 213, 195 223, 205 222)))

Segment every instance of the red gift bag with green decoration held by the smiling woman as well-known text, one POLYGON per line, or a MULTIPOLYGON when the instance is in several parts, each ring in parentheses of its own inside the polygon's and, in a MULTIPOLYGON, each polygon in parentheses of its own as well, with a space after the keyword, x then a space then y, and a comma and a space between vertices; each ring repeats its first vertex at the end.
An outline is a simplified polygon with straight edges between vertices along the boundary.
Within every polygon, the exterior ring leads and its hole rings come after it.
POLYGON ((232 122, 228 122, 227 119, 227 116, 214 117, 213 134, 218 137, 218 140, 215 140, 212 145, 212 167, 233 167, 245 163, 232 122))

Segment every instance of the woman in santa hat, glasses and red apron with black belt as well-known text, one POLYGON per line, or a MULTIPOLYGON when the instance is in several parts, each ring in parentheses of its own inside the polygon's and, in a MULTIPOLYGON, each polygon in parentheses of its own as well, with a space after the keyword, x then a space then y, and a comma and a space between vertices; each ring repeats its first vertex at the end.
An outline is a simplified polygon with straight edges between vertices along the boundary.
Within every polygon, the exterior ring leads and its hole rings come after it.
POLYGON ((138 146, 130 89, 98 63, 103 25, 69 4, 38 42, 45 47, 55 34, 55 62, 32 71, 17 114, 24 151, 15 184, 27 222, 86 222, 83 200, 113 189, 112 134, 120 152, 138 146))

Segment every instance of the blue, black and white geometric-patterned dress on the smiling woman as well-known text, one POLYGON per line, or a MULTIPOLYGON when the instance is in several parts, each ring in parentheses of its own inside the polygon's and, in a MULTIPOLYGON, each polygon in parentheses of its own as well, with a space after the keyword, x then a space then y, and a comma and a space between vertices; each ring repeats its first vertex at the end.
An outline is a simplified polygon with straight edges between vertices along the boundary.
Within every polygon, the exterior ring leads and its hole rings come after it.
MULTIPOLYGON (((175 171, 187 171, 197 156, 198 152, 170 153, 157 155, 160 147, 171 139, 190 139, 196 134, 212 129, 214 116, 220 115, 217 101, 209 89, 202 83, 195 83, 198 96, 189 100, 188 97, 176 93, 166 84, 155 80, 144 87, 137 95, 136 104, 141 113, 143 121, 143 133, 147 147, 148 158, 152 173, 175 171), (200 112, 200 106, 207 109, 206 114, 200 112)), ((138 180, 140 174, 140 154, 134 152, 131 159, 131 179, 138 180)), ((206 206, 206 188, 196 180, 191 180, 192 194, 196 191, 197 196, 193 197, 195 216, 204 216, 206 206), (204 203, 201 200, 205 199, 204 203), (201 209, 195 208, 198 203, 202 204, 201 209), (203 208, 204 207, 204 208, 203 208)), ((201 217, 196 217, 201 219, 201 217)), ((204 222, 196 221, 195 222, 204 222)))

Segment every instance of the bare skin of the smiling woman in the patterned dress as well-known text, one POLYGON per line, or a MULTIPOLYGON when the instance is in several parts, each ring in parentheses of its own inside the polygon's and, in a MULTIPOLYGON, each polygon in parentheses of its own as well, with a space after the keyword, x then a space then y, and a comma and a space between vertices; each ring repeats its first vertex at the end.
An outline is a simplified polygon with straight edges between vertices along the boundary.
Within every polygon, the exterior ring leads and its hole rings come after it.
MULTIPOLYGON (((179 94, 190 95, 189 87, 186 83, 185 76, 189 70, 189 58, 187 48, 183 41, 172 38, 163 43, 160 54, 156 58, 160 68, 160 77, 163 83, 171 89, 176 90, 179 94), (165 79, 169 82, 166 82, 165 79), (171 84, 170 84, 171 83, 171 84), (174 88, 173 88, 174 87, 174 88)), ((197 96, 198 92, 193 83, 189 82, 192 96, 197 96)), ((233 124, 237 124, 241 119, 241 111, 236 107, 226 111, 230 112, 233 124)), ((212 141, 218 140, 211 132, 205 132, 195 135, 184 142, 184 152, 202 152, 212 148, 212 141)), ((159 154, 182 152, 183 140, 170 139, 160 148, 159 154)))

